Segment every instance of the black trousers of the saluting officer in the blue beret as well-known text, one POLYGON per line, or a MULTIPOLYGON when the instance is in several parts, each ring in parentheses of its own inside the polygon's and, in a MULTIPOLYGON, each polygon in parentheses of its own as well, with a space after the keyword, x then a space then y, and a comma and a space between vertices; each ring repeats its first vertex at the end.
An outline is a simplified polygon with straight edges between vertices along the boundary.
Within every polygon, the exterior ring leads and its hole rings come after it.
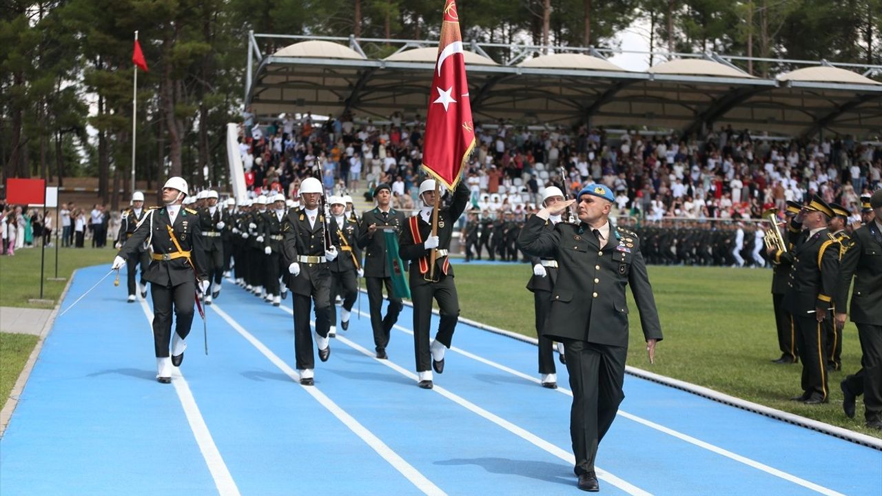
POLYGON ((577 476, 594 471, 597 447, 616 419, 624 400, 624 359, 628 349, 565 340, 566 370, 570 373, 572 410, 570 437, 577 476))

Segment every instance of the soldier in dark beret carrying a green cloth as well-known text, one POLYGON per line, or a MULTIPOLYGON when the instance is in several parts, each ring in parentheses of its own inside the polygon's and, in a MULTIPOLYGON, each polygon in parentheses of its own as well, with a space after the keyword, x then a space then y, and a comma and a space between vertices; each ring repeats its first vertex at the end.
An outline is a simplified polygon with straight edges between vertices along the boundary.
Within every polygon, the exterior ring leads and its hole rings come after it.
POLYGON ((392 208, 392 187, 389 184, 377 184, 374 188, 374 199, 377 207, 366 210, 362 214, 362 229, 358 237, 358 245, 364 247, 364 285, 368 290, 370 305, 370 327, 374 332, 374 346, 377 358, 385 359, 385 348, 389 344, 389 332, 404 304, 401 298, 392 293, 392 267, 386 259, 386 245, 383 232, 392 230, 400 233, 404 227, 404 213, 392 208), (383 316, 383 287, 389 306, 383 316))

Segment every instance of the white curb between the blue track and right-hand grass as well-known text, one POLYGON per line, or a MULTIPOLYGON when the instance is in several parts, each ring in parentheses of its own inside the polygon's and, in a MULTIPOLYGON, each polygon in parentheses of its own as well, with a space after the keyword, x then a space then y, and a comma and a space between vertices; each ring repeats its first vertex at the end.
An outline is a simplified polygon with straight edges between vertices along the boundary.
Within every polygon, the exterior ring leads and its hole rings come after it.
MULTIPOLYGON (((365 294, 367 293, 367 291, 364 289, 362 289, 362 292, 365 294)), ((408 300, 404 300, 404 304, 407 304, 407 306, 411 307, 414 306, 414 304, 408 300)), ((432 309, 432 313, 438 315, 438 311, 435 309, 432 309)), ((460 317, 460 321, 465 322, 469 326, 474 326, 493 334, 501 334, 506 337, 516 339, 518 341, 529 342, 536 346, 539 345, 539 340, 534 337, 514 333, 512 331, 500 329, 499 327, 488 326, 486 324, 482 324, 481 322, 476 322, 475 320, 466 319, 463 317, 460 317)), ((811 429, 812 431, 822 432, 833 437, 840 438, 841 440, 847 440, 861 446, 871 447, 873 449, 882 451, 882 440, 878 440, 877 438, 862 434, 860 432, 849 431, 848 429, 843 429, 842 427, 837 427, 836 425, 829 425, 825 424, 824 422, 818 422, 818 420, 802 417, 799 415, 788 413, 786 411, 775 410, 774 408, 770 408, 759 403, 748 402, 746 400, 742 400, 741 398, 736 398, 735 396, 730 396, 724 393, 720 393, 719 391, 714 391, 714 389, 710 389, 708 387, 698 386, 684 380, 671 379, 669 377, 665 377, 654 372, 647 372, 643 369, 632 367, 631 365, 626 365, 624 370, 625 373, 631 374, 634 377, 639 377, 640 379, 652 380, 653 382, 656 382, 658 384, 662 384, 668 387, 675 387, 676 389, 680 389, 693 395, 705 397, 708 400, 713 400, 714 402, 721 402, 723 404, 740 408, 742 410, 748 410, 753 413, 758 413, 759 415, 765 415, 766 417, 771 417, 776 420, 781 420, 782 422, 787 422, 788 424, 798 425, 806 429, 811 429)))

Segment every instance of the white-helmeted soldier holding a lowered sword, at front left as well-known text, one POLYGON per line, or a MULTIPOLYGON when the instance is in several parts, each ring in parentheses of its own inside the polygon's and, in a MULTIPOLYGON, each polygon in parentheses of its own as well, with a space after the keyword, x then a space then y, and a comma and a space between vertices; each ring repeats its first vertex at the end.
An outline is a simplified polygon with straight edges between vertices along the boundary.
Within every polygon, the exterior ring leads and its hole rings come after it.
POLYGON ((193 321, 193 306, 197 280, 205 292, 205 253, 202 249, 199 216, 196 210, 182 207, 187 196, 187 182, 183 177, 171 177, 162 187, 161 208, 153 208, 138 229, 123 244, 113 268, 123 267, 126 260, 138 257, 142 244, 153 248, 153 261, 145 279, 150 284, 153 298, 153 348, 156 353, 156 380, 171 382, 171 367, 183 362, 187 348, 187 334, 193 321), (171 313, 175 312, 175 334, 171 335, 171 313), (169 341, 171 357, 169 358, 169 341))

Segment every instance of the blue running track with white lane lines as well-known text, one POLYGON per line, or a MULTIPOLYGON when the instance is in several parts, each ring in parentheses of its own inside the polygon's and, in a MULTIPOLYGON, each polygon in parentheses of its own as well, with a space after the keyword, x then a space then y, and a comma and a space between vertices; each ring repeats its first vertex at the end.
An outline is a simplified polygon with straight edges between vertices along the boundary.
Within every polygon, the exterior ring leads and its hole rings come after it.
MULTIPOLYGON (((78 270, 62 307, 106 270, 78 270)), ((428 391, 410 308, 389 360, 353 312, 302 387, 290 298, 275 308, 226 282, 207 310, 210 355, 197 317, 167 386, 149 302, 125 296, 108 280, 56 319, 0 440, 3 496, 578 492, 571 397, 540 387, 531 344, 460 323, 428 391)), ((598 455, 604 494, 882 491, 878 450, 632 376, 624 389, 598 455)))

